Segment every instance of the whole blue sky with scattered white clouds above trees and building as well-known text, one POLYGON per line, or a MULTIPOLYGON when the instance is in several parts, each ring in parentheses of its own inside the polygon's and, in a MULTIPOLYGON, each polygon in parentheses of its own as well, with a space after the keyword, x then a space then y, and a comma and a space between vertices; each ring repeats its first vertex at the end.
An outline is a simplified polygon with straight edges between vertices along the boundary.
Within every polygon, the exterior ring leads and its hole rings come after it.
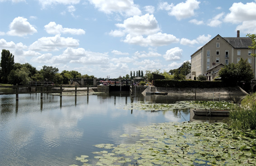
POLYGON ((168 72, 217 36, 256 33, 256 0, 0 0, 15 63, 97 78, 168 72))

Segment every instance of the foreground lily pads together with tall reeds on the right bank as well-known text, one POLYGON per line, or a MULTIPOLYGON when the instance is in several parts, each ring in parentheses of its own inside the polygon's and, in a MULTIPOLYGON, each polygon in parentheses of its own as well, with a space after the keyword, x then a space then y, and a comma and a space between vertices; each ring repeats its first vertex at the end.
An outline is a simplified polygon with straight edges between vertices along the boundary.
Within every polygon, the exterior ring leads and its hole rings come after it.
POLYGON ((138 127, 134 134, 121 135, 134 139, 133 144, 97 144, 93 157, 76 160, 85 166, 256 165, 255 101, 252 94, 241 105, 228 106, 228 124, 186 121, 138 127))

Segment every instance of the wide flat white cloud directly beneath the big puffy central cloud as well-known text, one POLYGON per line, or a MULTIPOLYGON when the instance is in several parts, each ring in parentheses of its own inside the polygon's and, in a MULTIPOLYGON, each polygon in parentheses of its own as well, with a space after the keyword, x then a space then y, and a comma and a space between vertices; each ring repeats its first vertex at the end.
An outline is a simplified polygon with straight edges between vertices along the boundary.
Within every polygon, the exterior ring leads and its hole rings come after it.
POLYGON ((156 47, 156 46, 169 45, 171 43, 177 43, 179 42, 179 39, 177 39, 173 35, 158 32, 156 34, 149 35, 146 38, 144 38, 143 36, 133 37, 130 34, 128 34, 124 42, 129 44, 140 45, 144 47, 147 47, 149 45, 156 47))

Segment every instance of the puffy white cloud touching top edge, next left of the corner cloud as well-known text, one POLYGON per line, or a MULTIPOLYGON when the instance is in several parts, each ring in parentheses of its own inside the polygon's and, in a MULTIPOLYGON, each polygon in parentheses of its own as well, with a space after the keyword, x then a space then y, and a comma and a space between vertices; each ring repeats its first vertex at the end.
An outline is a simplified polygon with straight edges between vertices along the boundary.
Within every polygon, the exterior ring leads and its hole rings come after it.
POLYGON ((163 2, 159 5, 159 9, 164 9, 168 11, 168 14, 175 16, 177 20, 184 18, 190 18, 195 15, 195 10, 199 9, 200 2, 197 0, 186 0, 186 2, 181 2, 177 5, 168 4, 163 2))

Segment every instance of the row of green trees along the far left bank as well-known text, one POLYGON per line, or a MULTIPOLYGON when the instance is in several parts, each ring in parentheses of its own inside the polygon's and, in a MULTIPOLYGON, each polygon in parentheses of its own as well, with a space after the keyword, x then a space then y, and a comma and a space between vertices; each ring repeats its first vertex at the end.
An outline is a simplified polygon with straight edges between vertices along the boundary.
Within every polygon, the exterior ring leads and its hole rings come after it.
POLYGON ((81 75, 77 71, 62 71, 59 73, 57 67, 43 66, 37 70, 29 63, 14 63, 14 55, 9 50, 2 50, 0 61, 0 82, 3 84, 28 85, 29 81, 53 81, 54 84, 69 84, 72 78, 88 78, 94 76, 81 75))

